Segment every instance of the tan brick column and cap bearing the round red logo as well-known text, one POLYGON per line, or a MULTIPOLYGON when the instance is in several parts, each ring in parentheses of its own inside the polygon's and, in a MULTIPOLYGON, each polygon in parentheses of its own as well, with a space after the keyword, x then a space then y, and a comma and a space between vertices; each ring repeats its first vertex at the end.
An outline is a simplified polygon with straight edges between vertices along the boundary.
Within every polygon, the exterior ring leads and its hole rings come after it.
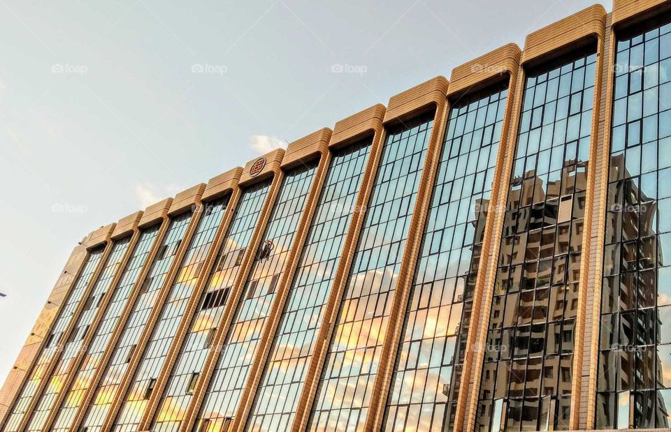
POLYGON ((252 234, 252 239, 250 240, 250 246, 247 248, 247 251, 245 251, 243 260, 240 262, 240 270, 238 271, 236 280, 233 282, 231 294, 229 295, 229 299, 226 302, 222 320, 217 326, 217 332, 215 333, 214 340, 212 341, 212 348, 210 349, 210 352, 208 352, 208 357, 205 359, 205 364, 203 364, 203 370, 201 371, 199 380, 196 383, 191 405, 189 406, 187 416, 182 422, 180 431, 191 431, 194 427, 194 424, 196 423, 196 418, 198 417, 198 413, 201 409, 203 399, 205 399, 205 392, 208 391, 208 387, 210 385, 210 378, 212 378, 212 374, 214 373, 217 362, 219 361, 219 354, 221 354, 222 346, 224 345, 224 339, 226 338, 226 334, 228 333, 231 322, 233 321, 233 315, 236 313, 240 296, 243 294, 245 281, 247 281, 247 276, 252 269, 254 257, 257 255, 259 241, 261 241, 261 237, 264 235, 266 223, 268 223, 270 213, 273 211, 273 204, 275 204, 277 195, 280 192, 280 186, 282 186, 282 179, 284 179, 284 172, 282 171, 281 167, 283 157, 284 150, 278 149, 270 152, 269 154, 261 156, 261 158, 249 161, 245 165, 243 174, 240 177, 240 188, 243 189, 268 178, 272 178, 273 183, 270 185, 270 191, 268 191, 266 202, 264 202, 264 207, 261 210, 261 214, 259 214, 259 221, 257 222, 256 228, 254 228, 254 233, 252 234), (250 170, 255 165, 255 163, 261 161, 262 159, 265 159, 265 165, 263 165, 263 168, 260 172, 256 172, 254 175, 252 175, 250 170))

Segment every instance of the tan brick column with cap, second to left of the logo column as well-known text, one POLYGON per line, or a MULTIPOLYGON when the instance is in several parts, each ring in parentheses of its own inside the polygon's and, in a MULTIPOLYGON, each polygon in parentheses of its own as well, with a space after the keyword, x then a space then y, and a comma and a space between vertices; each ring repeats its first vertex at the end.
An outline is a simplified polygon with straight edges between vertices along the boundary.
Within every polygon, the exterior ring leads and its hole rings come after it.
POLYGON ((175 276, 177 276, 177 271, 180 268, 180 265, 182 264, 182 260, 184 259, 184 255, 187 251, 187 248, 189 248, 191 238, 193 237, 194 232, 196 232, 196 228, 198 227, 201 215, 203 214, 203 203, 201 202, 201 197, 204 191, 205 191, 205 184, 198 184, 196 186, 193 186, 192 188, 188 188, 187 190, 182 191, 177 195, 175 195, 175 198, 171 203, 170 209, 168 209, 168 216, 178 216, 179 214, 182 214, 185 211, 189 211, 190 209, 192 209, 192 207, 194 207, 194 214, 191 218, 191 221, 189 221, 187 232, 185 233, 184 238, 180 243, 177 254, 175 255, 175 259, 171 264, 170 271, 168 271, 168 274, 166 275, 166 280, 164 281, 161 290, 159 290, 156 306, 152 310, 152 313, 150 313, 149 319, 147 320, 147 324, 142 333, 142 336, 140 336, 140 340, 138 341, 137 347, 133 352, 131 361, 129 362, 129 366, 126 371, 126 375, 124 375, 124 378, 117 391, 117 397, 113 402, 112 406, 110 407, 108 416, 105 419, 105 424, 103 425, 103 431, 109 431, 110 429, 112 429, 115 418, 117 417, 117 413, 119 412, 121 405, 124 402, 124 398, 126 396, 126 392, 128 391, 128 387, 131 384, 131 381, 133 380, 133 377, 135 375, 136 368, 140 364, 140 360, 142 359, 142 355, 147 346, 147 342, 149 341, 149 339, 152 336, 152 333, 154 332, 154 326, 156 325, 159 319, 162 306, 165 303, 168 294, 170 293, 170 288, 173 285, 173 280, 175 276))

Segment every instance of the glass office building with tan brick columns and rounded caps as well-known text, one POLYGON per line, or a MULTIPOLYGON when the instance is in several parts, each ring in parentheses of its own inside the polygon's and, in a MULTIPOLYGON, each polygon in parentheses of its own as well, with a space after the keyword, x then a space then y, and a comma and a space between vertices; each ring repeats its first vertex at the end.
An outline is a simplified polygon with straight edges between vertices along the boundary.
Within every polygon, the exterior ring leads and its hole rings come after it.
POLYGON ((87 234, 0 431, 668 430, 671 2, 449 75, 87 234))

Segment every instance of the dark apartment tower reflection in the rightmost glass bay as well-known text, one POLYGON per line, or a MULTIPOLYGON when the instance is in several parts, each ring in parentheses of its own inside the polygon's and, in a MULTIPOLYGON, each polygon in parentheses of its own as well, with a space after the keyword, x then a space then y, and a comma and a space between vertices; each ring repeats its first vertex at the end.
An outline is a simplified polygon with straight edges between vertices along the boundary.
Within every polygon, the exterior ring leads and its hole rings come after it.
MULTIPOLYGON (((656 191, 646 188, 640 178, 626 166, 624 153, 610 158, 606 239, 619 240, 619 248, 610 248, 604 266, 609 273, 619 273, 619 285, 609 283, 605 290, 600 341, 603 362, 600 368, 601 389, 613 388, 617 382, 618 417, 623 421, 647 419, 648 424, 668 427, 667 401, 655 390, 663 383, 663 363, 656 349, 656 334, 662 322, 654 313, 656 304, 655 267, 663 267, 663 245, 658 244, 656 191), (652 270, 650 270, 652 269, 652 270), (617 328, 616 328, 616 327, 617 328), (622 411, 628 410, 626 415, 622 411), (655 422, 658 419, 658 422, 655 422)), ((663 281, 660 281, 663 283, 663 281)), ((598 405, 597 415, 607 422, 607 405, 598 405)), ((623 424, 619 424, 623 426, 623 424)))

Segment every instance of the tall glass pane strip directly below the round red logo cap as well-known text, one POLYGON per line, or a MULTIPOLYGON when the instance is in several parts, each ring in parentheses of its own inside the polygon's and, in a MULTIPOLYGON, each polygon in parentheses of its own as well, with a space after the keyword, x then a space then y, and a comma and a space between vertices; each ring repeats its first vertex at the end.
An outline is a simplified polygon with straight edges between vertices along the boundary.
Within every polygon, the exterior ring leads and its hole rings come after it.
POLYGON ((240 263, 250 244, 268 195, 266 181, 245 189, 233 216, 229 230, 219 248, 217 260, 210 271, 208 287, 201 305, 182 344, 171 378, 161 399, 152 430, 178 430, 184 419, 192 392, 208 357, 226 300, 240 271, 240 263))

